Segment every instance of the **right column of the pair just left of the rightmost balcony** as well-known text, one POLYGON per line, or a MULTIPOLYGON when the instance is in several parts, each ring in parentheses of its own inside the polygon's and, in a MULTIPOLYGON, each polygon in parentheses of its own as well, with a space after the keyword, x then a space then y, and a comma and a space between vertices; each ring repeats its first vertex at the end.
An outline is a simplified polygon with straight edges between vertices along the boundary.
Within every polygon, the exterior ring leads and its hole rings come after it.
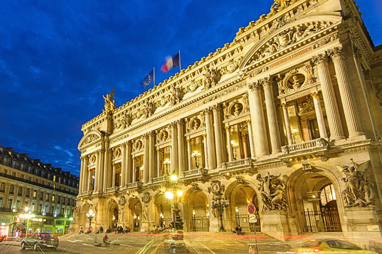
POLYGON ((266 97, 267 117, 269 126, 269 136, 271 138, 272 153, 281 152, 281 139, 277 112, 275 106, 275 97, 273 95, 273 78, 268 76, 263 79, 264 94, 266 97))

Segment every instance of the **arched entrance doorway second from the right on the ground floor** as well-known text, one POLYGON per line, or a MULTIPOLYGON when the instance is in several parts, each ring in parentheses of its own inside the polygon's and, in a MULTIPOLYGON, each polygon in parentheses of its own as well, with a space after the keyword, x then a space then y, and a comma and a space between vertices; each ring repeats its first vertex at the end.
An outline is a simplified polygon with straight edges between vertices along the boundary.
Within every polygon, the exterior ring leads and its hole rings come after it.
MULTIPOLYGON (((258 201, 255 190, 250 186, 239 185, 234 189, 232 193, 232 208, 234 208, 233 214, 235 214, 236 225, 239 225, 243 231, 260 232, 260 216, 258 213, 258 201), (248 204, 252 203, 256 207, 256 223, 249 223, 249 215, 247 211, 248 204)), ((234 227, 236 227, 234 225, 234 227)))

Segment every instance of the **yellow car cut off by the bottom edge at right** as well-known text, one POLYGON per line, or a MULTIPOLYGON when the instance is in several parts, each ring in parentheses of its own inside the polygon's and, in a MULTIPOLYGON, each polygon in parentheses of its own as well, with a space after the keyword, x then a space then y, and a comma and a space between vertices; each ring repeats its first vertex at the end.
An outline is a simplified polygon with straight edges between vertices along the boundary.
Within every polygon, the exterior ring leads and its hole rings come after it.
POLYGON ((338 239, 313 239, 301 246, 300 253, 363 253, 375 254, 377 252, 361 249, 357 245, 338 239))

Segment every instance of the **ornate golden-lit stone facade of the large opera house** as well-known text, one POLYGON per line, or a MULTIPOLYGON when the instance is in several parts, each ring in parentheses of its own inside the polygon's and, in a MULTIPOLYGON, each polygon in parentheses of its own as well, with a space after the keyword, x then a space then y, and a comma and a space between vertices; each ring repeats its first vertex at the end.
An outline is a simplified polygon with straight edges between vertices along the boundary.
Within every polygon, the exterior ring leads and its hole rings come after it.
POLYGON ((175 170, 185 231, 196 230, 195 216, 218 231, 209 207, 219 182, 228 230, 253 203, 255 228, 280 239, 318 231, 379 239, 352 216, 379 225, 382 52, 370 50, 354 2, 342 2, 275 1, 231 43, 85 123, 78 205, 98 203, 97 226, 114 216, 148 231, 172 218, 163 193, 175 170))

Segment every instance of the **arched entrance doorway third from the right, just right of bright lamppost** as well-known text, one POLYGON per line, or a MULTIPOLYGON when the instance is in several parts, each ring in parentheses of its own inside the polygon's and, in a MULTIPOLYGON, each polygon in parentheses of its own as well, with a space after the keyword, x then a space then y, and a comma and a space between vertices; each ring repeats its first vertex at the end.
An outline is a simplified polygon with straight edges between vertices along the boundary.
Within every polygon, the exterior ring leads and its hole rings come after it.
POLYGON ((194 190, 189 196, 187 208, 185 213, 188 215, 188 231, 210 231, 210 212, 207 196, 200 190, 194 190))

